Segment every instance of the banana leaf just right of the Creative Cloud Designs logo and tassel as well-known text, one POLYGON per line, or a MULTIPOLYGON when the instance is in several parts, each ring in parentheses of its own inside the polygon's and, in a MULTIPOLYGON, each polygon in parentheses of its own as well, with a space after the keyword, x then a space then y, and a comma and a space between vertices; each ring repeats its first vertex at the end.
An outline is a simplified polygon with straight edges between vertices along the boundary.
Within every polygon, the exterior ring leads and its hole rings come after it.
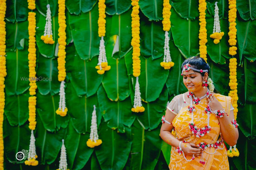
MULTIPOLYGON (((57 158, 57 165, 54 168, 57 169, 59 166, 60 149, 62 145, 62 139, 65 139, 67 134, 67 128, 61 128, 58 132, 49 132, 44 128, 44 125, 40 119, 40 116, 36 118, 36 153, 39 164, 52 164, 57 158)), ((30 138, 30 135, 29 137, 30 138)), ((27 143, 29 147, 29 141, 27 143)), ((65 145, 67 147, 67 145, 65 145)))

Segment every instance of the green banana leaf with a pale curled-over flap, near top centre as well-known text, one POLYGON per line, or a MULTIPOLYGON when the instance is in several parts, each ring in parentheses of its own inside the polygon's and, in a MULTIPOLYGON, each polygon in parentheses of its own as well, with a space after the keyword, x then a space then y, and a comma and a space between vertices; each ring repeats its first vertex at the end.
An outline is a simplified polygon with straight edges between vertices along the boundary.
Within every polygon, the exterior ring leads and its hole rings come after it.
POLYGON ((104 38, 104 41, 107 42, 107 56, 120 59, 132 49, 131 13, 132 9, 121 15, 113 15, 111 18, 107 18, 106 37, 109 37, 109 39, 106 40, 106 38, 104 38), (113 44, 113 46, 109 45, 109 43, 113 44), (110 46, 111 50, 108 49, 107 46, 110 46))

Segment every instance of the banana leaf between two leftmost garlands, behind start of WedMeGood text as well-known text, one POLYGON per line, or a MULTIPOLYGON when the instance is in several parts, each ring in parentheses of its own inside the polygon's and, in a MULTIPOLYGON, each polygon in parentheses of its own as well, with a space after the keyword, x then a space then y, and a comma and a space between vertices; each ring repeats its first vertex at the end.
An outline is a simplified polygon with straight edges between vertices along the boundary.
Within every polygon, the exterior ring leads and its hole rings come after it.
POLYGON ((6 51, 5 93, 8 96, 23 94, 29 88, 28 41, 24 50, 6 51))

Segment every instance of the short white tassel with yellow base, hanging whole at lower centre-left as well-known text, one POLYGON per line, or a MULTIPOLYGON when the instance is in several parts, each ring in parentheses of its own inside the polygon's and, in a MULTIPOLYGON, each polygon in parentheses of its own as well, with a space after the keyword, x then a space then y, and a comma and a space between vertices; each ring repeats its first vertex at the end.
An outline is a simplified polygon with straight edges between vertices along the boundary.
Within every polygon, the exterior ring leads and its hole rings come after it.
POLYGON ((86 145, 90 148, 94 148, 95 146, 99 146, 101 143, 102 140, 99 139, 97 130, 96 106, 93 105, 90 139, 88 139, 86 145))

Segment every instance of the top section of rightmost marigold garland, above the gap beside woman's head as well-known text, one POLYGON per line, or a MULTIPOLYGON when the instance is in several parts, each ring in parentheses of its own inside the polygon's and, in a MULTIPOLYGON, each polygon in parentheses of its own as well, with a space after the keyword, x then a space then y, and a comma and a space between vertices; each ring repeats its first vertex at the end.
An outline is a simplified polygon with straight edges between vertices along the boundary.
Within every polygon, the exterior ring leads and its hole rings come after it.
POLYGON ((237 35, 237 29, 236 29, 236 18, 237 18, 237 8, 236 8, 236 0, 229 0, 229 11, 228 11, 228 21, 229 21, 229 55, 234 56, 237 54, 237 47, 236 47, 236 35, 237 35))

